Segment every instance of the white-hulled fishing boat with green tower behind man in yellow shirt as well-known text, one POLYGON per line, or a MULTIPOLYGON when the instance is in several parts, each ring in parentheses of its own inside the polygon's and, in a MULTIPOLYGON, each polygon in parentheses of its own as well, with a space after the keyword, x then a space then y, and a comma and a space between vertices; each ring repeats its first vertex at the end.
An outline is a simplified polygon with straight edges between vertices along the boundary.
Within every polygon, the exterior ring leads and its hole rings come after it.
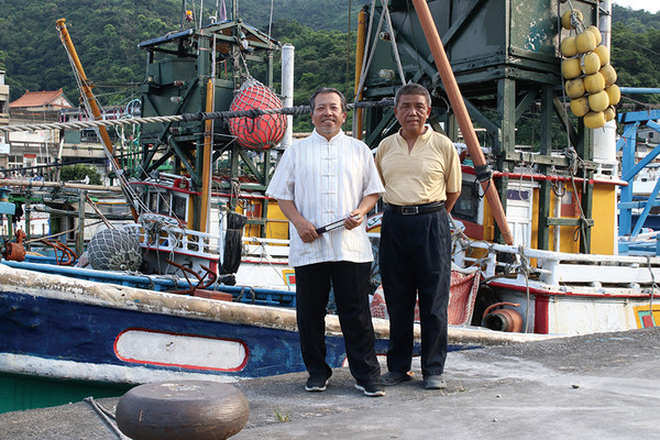
MULTIPOLYGON (((626 239, 639 233, 626 198, 646 164, 635 161, 635 127, 619 140, 618 150, 631 143, 619 177, 614 95, 603 113, 596 111, 603 103, 588 100, 596 90, 566 96, 574 92, 569 79, 586 80, 578 59, 587 54, 605 53, 595 72, 610 77, 610 2, 391 1, 362 13, 355 95, 377 101, 402 84, 425 85, 433 98, 431 128, 462 153, 462 193, 452 211, 454 263, 482 273, 475 319, 558 334, 657 324, 657 248, 639 256, 619 252, 631 249, 626 239), (585 38, 587 47, 580 50, 565 43, 585 38), (569 72, 575 63, 578 70, 569 72), (575 110, 585 101, 594 108, 575 110), (565 133, 559 143, 554 127, 565 133), (619 193, 628 217, 617 224, 619 193)), ((636 127, 640 118, 618 116, 636 127)), ((398 130, 389 109, 366 108, 353 121, 372 147, 398 130)), ((648 211, 656 196, 635 207, 648 211)))

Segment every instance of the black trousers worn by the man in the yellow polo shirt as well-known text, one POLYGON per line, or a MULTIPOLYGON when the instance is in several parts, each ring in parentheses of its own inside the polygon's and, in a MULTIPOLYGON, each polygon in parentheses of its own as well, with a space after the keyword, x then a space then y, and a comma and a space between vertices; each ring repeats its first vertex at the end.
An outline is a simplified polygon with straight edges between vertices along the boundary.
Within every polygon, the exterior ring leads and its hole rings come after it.
POLYGON ((415 302, 419 295, 421 372, 442 374, 447 359, 447 307, 451 234, 447 211, 404 216, 385 210, 381 278, 389 314, 387 367, 407 372, 413 361, 415 302))

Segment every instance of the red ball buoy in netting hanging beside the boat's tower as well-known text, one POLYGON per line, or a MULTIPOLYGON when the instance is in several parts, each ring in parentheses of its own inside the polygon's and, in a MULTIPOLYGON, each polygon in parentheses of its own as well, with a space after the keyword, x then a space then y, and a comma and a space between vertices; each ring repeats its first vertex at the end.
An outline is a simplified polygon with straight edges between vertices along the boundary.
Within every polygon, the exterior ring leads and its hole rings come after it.
MULTIPOLYGON (((230 111, 282 109, 282 101, 266 86, 248 78, 234 97, 230 111)), ((253 150, 267 150, 276 145, 286 131, 284 114, 262 114, 257 118, 231 118, 229 131, 240 145, 253 150)))

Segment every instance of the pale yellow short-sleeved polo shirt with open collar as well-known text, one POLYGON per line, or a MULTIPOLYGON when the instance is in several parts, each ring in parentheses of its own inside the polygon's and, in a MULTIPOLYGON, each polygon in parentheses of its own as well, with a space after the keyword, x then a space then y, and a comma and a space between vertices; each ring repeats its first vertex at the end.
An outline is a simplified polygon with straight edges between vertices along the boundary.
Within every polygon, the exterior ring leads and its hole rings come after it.
POLYGON ((461 162, 443 134, 427 128, 410 153, 399 133, 385 138, 376 151, 376 168, 385 185, 383 200, 391 205, 422 205, 447 200, 461 190, 461 162))

